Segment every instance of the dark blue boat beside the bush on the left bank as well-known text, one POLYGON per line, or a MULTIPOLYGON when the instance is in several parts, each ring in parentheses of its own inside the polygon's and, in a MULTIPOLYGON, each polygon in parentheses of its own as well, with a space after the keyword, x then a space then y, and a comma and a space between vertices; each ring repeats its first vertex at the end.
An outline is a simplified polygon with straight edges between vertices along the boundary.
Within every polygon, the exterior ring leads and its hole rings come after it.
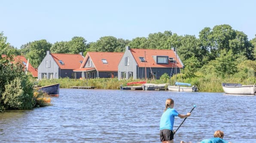
POLYGON ((54 85, 47 85, 47 86, 42 86, 38 88, 34 88, 37 92, 43 92, 46 93, 49 96, 59 96, 59 88, 60 84, 54 84, 54 85))

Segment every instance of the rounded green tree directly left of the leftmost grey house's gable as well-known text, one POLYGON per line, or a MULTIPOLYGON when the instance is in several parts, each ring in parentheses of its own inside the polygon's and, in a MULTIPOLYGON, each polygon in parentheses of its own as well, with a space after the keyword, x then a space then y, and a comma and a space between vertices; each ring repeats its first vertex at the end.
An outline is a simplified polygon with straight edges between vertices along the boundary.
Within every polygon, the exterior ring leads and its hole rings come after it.
POLYGON ((31 42, 28 49, 29 52, 26 55, 27 59, 30 59, 30 64, 37 68, 46 56, 46 51, 50 50, 52 44, 46 40, 31 42))

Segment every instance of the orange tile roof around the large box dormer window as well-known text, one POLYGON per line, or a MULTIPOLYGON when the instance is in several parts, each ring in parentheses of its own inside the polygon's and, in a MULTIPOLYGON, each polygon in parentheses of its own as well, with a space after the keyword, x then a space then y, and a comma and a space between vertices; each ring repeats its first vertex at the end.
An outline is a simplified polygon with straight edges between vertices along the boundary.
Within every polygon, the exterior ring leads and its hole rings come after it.
MULTIPOLYGON (((130 49, 138 67, 175 67, 173 62, 168 60, 168 64, 156 64, 153 55, 167 55, 169 58, 176 60, 175 52, 173 50, 154 50, 154 49, 130 49), (146 55, 146 57, 145 57, 146 55), (146 62, 140 61, 139 57, 145 57, 146 62)), ((181 62, 177 60, 177 67, 183 68, 181 62)))

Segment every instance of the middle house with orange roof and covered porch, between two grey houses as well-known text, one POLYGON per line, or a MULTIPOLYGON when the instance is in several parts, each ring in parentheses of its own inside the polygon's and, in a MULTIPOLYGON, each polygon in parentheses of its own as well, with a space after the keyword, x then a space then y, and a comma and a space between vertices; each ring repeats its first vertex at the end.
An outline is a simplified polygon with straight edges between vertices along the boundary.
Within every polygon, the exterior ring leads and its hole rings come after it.
POLYGON ((118 76, 118 64, 124 53, 120 52, 88 52, 78 69, 82 78, 114 78, 118 76))

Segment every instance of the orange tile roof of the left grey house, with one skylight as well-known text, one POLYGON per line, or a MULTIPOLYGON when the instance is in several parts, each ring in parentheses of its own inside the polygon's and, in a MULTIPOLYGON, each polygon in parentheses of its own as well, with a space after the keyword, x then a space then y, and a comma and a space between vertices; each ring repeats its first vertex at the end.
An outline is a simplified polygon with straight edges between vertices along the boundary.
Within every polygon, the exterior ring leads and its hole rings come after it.
POLYGON ((83 56, 79 54, 51 54, 51 55, 61 69, 77 69, 80 67, 81 62, 84 60, 83 56), (60 61, 62 61, 63 64, 61 64, 60 61))

